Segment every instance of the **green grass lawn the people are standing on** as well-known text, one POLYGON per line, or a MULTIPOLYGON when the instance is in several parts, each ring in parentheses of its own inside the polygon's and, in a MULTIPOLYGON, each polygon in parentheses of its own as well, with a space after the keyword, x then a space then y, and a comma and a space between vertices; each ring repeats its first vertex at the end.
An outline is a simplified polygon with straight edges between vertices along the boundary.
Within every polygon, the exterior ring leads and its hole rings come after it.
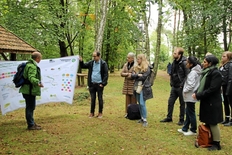
MULTIPOLYGON (((41 131, 27 131, 24 109, 0 116, 0 154, 12 155, 164 155, 230 154, 230 127, 220 125, 221 151, 209 152, 194 146, 195 136, 177 132, 179 103, 173 122, 166 117, 169 78, 159 71, 153 86, 154 98, 147 101, 148 127, 124 118, 125 96, 119 72, 109 77, 104 90, 103 118, 88 118, 90 99, 86 87, 77 87, 72 105, 50 103, 36 107, 35 121, 41 131)), ((199 103, 196 104, 198 114, 199 103)), ((96 111, 98 106, 96 107, 96 111)), ((199 123, 199 122, 198 122, 199 123)))

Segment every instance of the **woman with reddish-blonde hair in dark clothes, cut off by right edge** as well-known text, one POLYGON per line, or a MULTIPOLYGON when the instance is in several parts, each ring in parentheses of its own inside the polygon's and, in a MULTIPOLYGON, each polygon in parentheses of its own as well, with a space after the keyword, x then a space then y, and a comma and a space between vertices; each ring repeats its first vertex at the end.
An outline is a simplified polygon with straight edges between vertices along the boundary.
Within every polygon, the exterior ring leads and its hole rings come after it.
POLYGON ((232 126, 232 118, 231 117, 231 108, 232 108, 232 99, 231 93, 231 81, 232 81, 232 52, 226 51, 222 53, 221 58, 221 66, 219 70, 222 74, 222 95, 224 98, 224 113, 225 113, 225 120, 222 122, 225 126, 232 126))

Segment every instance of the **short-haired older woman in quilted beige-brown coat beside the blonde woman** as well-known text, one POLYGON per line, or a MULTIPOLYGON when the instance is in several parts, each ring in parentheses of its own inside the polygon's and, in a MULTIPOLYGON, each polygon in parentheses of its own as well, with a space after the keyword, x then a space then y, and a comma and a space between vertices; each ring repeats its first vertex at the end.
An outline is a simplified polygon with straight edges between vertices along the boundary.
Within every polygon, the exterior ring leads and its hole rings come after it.
POLYGON ((127 62, 124 64, 121 71, 121 76, 124 77, 124 84, 122 89, 122 94, 126 95, 126 105, 125 105, 125 117, 127 116, 127 107, 129 104, 137 104, 136 98, 133 95, 133 88, 135 80, 128 77, 129 73, 132 73, 134 69, 134 58, 135 54, 130 52, 127 55, 127 62))

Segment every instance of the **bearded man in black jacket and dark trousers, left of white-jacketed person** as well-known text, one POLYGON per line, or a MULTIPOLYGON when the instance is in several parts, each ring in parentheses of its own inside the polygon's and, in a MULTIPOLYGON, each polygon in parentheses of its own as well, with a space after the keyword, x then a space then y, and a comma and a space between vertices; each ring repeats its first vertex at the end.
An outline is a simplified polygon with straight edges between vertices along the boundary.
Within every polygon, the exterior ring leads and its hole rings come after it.
POLYGON ((167 117, 160 122, 172 122, 172 114, 174 104, 179 98, 180 102, 180 114, 178 125, 184 124, 184 115, 185 115, 185 102, 182 95, 182 90, 184 86, 184 80, 189 70, 186 68, 186 58, 183 56, 184 49, 177 47, 173 52, 174 61, 172 63, 171 74, 170 74, 170 85, 171 92, 168 99, 168 114, 167 117))

